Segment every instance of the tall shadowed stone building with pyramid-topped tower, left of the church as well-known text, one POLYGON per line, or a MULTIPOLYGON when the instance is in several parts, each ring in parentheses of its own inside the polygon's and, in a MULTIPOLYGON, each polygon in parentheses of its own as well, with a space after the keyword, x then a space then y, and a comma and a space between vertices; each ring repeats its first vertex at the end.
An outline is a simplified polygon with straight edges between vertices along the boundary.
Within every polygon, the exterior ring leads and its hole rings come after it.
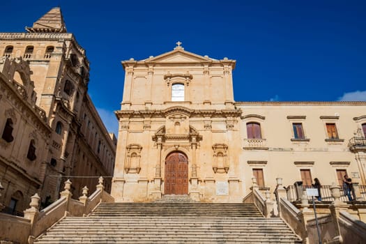
POLYGON ((0 33, 0 55, 0 202, 13 212, 35 192, 52 202, 66 176, 74 197, 96 190, 99 176, 110 191, 116 139, 88 96, 89 61, 60 8, 26 33, 0 33))

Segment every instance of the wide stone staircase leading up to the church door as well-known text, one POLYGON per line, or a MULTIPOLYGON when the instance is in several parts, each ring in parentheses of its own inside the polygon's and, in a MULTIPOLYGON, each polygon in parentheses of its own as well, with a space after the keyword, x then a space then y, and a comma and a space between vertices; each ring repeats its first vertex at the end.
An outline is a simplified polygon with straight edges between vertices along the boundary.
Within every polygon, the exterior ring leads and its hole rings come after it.
POLYGON ((151 203, 101 203, 66 217, 35 243, 302 243, 280 218, 254 204, 213 204, 188 196, 151 203))

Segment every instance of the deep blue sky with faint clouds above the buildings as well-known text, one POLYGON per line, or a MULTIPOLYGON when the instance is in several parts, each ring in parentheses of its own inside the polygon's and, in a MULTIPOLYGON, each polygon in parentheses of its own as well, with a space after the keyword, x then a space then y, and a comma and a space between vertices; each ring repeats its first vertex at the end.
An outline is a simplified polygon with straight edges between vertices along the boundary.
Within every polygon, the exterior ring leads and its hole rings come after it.
POLYGON ((122 60, 185 50, 236 60, 236 101, 366 100, 366 1, 1 1, 0 32, 61 6, 91 62, 89 94, 109 130, 122 60), (20 8, 22 6, 22 8, 20 8))

